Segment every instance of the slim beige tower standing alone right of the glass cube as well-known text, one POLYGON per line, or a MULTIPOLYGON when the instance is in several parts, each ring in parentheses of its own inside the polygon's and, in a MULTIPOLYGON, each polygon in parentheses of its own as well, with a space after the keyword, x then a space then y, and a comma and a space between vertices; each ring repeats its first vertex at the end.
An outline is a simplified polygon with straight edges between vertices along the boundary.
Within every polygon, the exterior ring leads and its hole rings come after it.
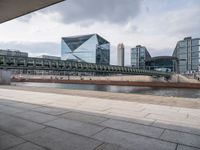
POLYGON ((117 46, 117 65, 124 66, 124 44, 120 43, 117 46))

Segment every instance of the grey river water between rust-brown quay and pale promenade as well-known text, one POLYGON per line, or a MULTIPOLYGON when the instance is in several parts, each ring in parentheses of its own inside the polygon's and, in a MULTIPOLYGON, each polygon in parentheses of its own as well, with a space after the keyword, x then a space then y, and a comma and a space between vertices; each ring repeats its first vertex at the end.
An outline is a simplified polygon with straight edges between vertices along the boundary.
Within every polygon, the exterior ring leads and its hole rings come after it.
POLYGON ((59 83, 12 83, 17 86, 48 87, 58 89, 105 91, 114 93, 136 93, 157 96, 172 96, 186 98, 200 98, 200 89, 176 89, 176 88, 150 88, 135 86, 90 85, 90 84, 59 84, 59 83))

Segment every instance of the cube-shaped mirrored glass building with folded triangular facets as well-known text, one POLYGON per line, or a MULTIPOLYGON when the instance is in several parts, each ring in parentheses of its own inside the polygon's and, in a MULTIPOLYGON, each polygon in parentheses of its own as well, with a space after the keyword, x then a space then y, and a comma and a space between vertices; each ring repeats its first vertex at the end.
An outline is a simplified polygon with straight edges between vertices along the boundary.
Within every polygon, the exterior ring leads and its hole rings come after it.
POLYGON ((98 34, 63 37, 62 60, 110 64, 110 43, 98 34))

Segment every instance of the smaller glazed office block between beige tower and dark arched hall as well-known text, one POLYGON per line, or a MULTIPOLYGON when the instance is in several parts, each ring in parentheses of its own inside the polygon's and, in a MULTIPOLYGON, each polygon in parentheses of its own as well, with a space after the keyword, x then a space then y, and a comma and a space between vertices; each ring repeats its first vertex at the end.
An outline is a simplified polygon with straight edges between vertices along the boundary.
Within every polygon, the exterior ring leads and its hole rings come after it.
POLYGON ((145 61, 151 58, 146 47, 137 45, 131 49, 131 66, 138 69, 145 69, 145 61))

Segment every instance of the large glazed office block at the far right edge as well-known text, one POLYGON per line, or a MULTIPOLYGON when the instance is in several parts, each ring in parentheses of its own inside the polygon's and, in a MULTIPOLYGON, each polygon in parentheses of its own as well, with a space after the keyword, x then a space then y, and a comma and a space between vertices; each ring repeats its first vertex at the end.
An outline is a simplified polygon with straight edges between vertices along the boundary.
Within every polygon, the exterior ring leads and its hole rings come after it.
POLYGON ((200 38, 186 37, 179 41, 173 52, 178 58, 178 70, 180 73, 200 71, 200 38))

